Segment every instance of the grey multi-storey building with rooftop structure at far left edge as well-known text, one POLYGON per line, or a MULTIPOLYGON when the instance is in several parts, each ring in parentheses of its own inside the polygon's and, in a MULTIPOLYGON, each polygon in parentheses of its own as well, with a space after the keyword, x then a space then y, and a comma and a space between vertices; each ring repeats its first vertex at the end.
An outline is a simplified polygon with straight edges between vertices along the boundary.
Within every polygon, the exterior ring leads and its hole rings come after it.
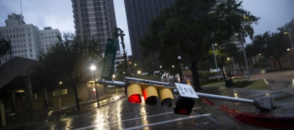
POLYGON ((1 63, 13 56, 37 60, 41 51, 38 27, 26 24, 21 14, 12 13, 7 18, 6 26, 0 27, 0 33, 6 41, 10 41, 11 54, 0 57, 1 63))

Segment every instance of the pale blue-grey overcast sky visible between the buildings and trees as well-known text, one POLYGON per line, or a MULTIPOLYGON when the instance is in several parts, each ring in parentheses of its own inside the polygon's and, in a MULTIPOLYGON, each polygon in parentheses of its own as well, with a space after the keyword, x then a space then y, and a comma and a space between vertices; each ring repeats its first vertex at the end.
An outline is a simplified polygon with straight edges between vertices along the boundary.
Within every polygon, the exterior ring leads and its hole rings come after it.
MULTIPOLYGON (((125 34, 125 43, 130 54, 127 21, 123 0, 113 0, 116 24, 125 34)), ((243 8, 260 17, 254 25, 255 34, 266 31, 277 32, 277 28, 294 18, 294 0, 244 0, 243 8)), ((71 0, 22 0, 22 12, 26 24, 33 24, 40 30, 44 27, 59 29, 60 32, 74 32, 74 18, 71 0)), ((20 14, 20 0, 0 0, 0 27, 11 13, 20 14)), ((246 38, 247 43, 251 43, 246 38)))

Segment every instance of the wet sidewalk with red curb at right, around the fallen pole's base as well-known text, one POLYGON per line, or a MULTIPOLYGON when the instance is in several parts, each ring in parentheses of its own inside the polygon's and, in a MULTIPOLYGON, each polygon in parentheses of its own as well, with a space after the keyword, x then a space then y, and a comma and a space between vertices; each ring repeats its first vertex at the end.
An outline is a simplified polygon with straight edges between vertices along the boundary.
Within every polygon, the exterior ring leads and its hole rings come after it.
POLYGON ((294 71, 280 71, 251 75, 251 80, 264 79, 272 91, 244 88, 202 86, 201 93, 255 99, 271 97, 274 110, 260 111, 251 104, 209 99, 220 110, 241 123, 271 129, 294 129, 294 71))

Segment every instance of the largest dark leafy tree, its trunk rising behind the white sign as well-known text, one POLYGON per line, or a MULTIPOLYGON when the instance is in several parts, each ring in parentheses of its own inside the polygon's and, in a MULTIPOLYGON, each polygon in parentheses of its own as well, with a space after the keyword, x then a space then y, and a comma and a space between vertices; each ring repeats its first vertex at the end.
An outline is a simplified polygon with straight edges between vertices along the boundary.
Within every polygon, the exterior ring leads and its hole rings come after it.
POLYGON ((186 56, 193 74, 194 89, 201 90, 198 63, 208 55, 212 43, 224 43, 235 32, 253 35, 251 24, 259 18, 242 8, 242 1, 176 0, 150 22, 149 32, 140 38, 146 57, 156 53, 165 66, 186 56), (246 19, 244 18, 246 16, 246 19), (177 56, 175 56, 177 55, 177 56))

